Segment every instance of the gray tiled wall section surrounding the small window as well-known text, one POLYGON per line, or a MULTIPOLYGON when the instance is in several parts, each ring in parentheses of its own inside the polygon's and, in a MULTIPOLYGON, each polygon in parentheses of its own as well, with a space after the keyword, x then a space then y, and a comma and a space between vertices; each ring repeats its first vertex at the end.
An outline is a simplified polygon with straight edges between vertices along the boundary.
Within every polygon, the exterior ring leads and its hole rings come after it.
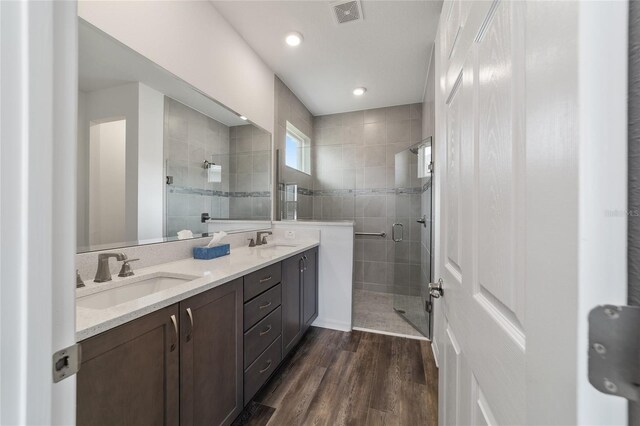
MULTIPOLYGON (((311 152, 311 175, 299 172, 284 165, 285 137, 287 121, 313 140, 313 116, 296 95, 278 78, 275 78, 275 149, 281 153, 280 183, 298 185, 296 213, 298 219, 313 218, 314 199, 309 191, 313 189, 313 151, 311 152)), ((282 195, 282 194, 280 194, 282 195)))

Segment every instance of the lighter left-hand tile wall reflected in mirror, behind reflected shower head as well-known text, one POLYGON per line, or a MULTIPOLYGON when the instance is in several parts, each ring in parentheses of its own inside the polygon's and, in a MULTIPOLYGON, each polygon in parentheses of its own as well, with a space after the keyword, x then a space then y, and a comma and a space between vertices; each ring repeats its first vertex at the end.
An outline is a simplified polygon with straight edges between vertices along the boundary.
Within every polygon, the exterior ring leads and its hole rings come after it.
POLYGON ((190 229, 206 232, 204 212, 228 218, 229 200, 213 191, 229 191, 229 127, 165 96, 165 167, 173 185, 165 193, 165 236, 190 229), (204 160, 222 164, 222 182, 208 183, 204 160))

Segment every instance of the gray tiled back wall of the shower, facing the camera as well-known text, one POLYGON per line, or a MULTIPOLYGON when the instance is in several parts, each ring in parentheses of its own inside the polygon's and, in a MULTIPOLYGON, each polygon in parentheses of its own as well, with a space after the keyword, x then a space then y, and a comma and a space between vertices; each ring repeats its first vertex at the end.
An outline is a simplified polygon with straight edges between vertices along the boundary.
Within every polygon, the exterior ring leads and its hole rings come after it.
POLYGON ((351 219, 356 232, 355 288, 419 294, 422 188, 396 193, 396 154, 422 139, 422 104, 400 105, 314 119, 313 218, 351 219), (404 241, 391 226, 404 218, 404 241))

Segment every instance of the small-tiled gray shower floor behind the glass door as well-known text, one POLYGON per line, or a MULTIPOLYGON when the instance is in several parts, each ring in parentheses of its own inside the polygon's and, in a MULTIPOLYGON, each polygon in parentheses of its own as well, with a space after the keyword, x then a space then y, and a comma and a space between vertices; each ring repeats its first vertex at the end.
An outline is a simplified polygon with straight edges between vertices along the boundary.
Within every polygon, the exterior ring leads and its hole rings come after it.
MULTIPOLYGON (((407 321, 393 310, 393 294, 378 293, 368 290, 354 290, 353 293, 353 326, 367 330, 401 334, 404 336, 425 338, 407 321)), ((422 305, 421 298, 406 297, 407 302, 422 305)), ((403 304, 404 306, 409 306, 403 304)))

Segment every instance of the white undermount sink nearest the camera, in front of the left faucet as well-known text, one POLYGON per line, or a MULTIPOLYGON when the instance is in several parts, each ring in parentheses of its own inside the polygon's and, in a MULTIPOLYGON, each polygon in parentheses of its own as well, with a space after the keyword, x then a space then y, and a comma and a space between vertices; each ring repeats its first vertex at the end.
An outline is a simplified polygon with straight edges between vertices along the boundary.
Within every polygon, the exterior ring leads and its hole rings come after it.
POLYGON ((88 309, 108 309, 198 278, 197 276, 156 272, 150 275, 130 278, 126 283, 123 282, 118 287, 78 297, 76 304, 88 309))

